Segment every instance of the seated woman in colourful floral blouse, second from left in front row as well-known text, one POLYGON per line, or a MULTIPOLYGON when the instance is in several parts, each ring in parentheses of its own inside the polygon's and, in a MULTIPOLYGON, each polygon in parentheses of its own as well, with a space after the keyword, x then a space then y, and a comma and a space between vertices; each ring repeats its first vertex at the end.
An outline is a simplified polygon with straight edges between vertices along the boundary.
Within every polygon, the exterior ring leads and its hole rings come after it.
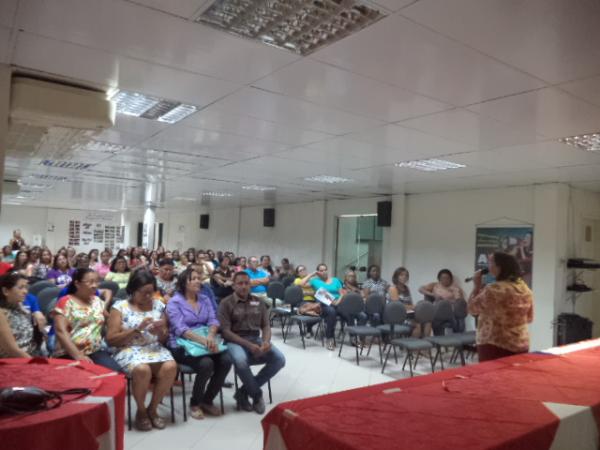
POLYGON ((104 302, 96 296, 98 274, 77 269, 67 295, 52 311, 58 345, 55 357, 93 362, 114 371, 121 367, 103 347, 104 302))

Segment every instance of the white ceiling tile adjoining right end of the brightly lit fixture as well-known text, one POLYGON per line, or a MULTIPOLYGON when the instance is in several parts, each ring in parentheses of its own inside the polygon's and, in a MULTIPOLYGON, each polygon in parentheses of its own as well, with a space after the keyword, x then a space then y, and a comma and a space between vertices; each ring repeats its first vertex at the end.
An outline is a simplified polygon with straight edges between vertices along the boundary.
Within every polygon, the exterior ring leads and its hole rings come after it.
MULTIPOLYGON (((252 113, 252 111, 249 111, 249 113, 252 113)), ((188 116, 181 123, 182 125, 202 130, 223 131, 225 133, 288 145, 310 144, 311 142, 322 141, 332 136, 326 133, 303 130, 294 126, 281 125, 267 120, 221 111, 213 106, 188 116)))

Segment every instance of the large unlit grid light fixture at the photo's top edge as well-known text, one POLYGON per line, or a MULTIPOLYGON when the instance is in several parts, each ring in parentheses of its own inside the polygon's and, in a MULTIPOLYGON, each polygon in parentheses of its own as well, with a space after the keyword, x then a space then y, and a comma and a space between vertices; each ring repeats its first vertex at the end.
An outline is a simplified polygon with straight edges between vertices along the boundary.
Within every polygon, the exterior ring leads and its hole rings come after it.
POLYGON ((383 17, 360 0, 215 0, 196 21, 307 55, 383 17))

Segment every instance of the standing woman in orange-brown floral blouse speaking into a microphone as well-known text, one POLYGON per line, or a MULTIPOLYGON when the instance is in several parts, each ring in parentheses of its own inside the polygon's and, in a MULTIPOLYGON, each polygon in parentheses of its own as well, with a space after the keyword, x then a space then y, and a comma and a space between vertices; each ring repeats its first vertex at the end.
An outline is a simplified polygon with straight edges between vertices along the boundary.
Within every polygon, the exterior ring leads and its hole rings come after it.
POLYGON ((489 361, 529 351, 527 324, 533 321, 533 294, 521 278, 517 259, 496 252, 489 258, 494 283, 483 286, 481 271, 473 277, 469 313, 478 316, 477 353, 489 361))

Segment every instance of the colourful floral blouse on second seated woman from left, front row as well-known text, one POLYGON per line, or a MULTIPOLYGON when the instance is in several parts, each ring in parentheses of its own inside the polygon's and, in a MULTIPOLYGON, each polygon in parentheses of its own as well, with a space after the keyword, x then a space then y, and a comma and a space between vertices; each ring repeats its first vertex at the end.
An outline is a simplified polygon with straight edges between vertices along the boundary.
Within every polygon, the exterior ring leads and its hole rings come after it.
MULTIPOLYGON (((67 319, 73 344, 84 355, 89 355, 102 347, 103 311, 104 302, 98 297, 94 297, 89 305, 82 305, 72 296, 65 295, 58 300, 53 312, 67 319)), ((55 356, 65 354, 65 350, 60 347, 54 352, 55 356)))

